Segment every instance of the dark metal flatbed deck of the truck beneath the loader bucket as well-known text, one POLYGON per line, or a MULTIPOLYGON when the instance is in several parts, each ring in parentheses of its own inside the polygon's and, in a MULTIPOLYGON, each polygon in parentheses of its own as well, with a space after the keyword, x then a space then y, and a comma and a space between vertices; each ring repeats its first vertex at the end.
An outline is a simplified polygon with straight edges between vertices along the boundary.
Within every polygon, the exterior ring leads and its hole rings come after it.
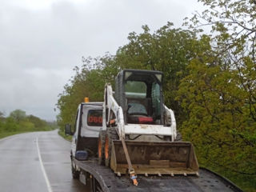
POLYGON ((222 191, 242 192, 238 186, 213 171, 200 168, 199 176, 143 176, 138 175, 138 186, 133 186, 127 175, 117 176, 110 168, 98 165, 95 160, 80 162, 74 160, 80 169, 93 175, 105 192, 198 192, 222 191))

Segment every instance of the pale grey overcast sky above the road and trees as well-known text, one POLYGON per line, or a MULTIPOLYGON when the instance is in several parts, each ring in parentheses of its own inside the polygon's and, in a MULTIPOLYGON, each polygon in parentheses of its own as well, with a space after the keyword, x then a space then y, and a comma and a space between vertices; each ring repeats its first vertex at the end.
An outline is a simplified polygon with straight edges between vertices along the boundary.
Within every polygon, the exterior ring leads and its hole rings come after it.
POLYGON ((179 27, 200 8, 197 0, 0 0, 0 111, 54 120, 82 56, 115 54, 142 25, 179 27))

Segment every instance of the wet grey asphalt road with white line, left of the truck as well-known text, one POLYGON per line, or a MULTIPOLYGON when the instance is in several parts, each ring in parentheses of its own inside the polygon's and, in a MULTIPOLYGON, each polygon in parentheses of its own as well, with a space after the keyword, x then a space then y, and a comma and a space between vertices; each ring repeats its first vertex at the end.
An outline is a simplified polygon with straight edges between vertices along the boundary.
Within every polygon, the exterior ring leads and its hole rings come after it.
POLYGON ((88 192, 71 177, 70 142, 57 130, 0 139, 1 192, 88 192))

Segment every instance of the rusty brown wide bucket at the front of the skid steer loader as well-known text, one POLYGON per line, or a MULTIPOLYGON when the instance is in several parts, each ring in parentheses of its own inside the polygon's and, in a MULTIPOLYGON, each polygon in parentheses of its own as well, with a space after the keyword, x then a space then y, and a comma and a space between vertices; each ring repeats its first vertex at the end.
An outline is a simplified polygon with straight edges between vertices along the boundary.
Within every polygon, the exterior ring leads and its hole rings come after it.
MULTIPOLYGON (((198 175, 198 161, 190 142, 126 141, 126 146, 136 174, 198 175)), ((127 173, 121 141, 112 142, 110 167, 116 174, 127 173)))

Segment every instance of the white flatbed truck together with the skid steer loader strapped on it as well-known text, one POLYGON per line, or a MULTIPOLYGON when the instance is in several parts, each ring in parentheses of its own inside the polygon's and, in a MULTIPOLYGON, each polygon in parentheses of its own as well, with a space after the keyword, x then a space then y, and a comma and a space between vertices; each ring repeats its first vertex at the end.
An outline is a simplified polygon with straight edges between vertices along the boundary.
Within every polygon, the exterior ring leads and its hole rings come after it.
POLYGON ((105 86, 104 102, 78 106, 74 125, 73 178, 91 191, 242 191, 199 168, 194 147, 182 142, 174 112, 164 105, 162 72, 122 70, 105 86))

